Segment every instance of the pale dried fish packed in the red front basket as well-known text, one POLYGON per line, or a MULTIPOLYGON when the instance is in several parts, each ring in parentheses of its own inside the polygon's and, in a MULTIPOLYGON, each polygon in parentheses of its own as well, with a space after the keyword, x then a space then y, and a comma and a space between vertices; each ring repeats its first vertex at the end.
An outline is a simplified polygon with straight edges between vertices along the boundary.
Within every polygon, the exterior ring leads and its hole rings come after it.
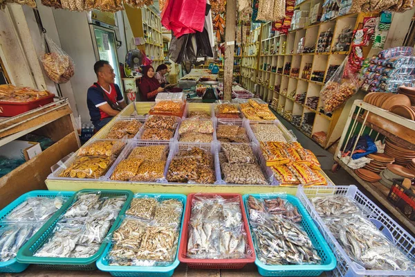
POLYGON ((245 258, 246 233, 239 200, 194 198, 187 256, 202 259, 245 258))

